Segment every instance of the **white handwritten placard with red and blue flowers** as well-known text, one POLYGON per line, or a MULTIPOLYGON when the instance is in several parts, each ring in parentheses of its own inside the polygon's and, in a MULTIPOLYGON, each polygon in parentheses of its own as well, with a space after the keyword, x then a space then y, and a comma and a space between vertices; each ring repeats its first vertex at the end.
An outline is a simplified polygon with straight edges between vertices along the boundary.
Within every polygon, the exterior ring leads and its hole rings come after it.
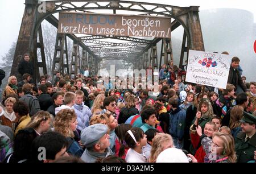
POLYGON ((186 81, 226 89, 232 56, 189 50, 186 81))

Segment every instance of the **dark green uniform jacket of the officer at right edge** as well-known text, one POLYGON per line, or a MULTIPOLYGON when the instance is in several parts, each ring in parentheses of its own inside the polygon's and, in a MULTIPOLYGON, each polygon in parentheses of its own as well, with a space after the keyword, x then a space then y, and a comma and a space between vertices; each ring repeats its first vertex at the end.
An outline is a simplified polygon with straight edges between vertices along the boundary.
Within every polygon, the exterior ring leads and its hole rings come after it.
POLYGON ((256 134, 245 143, 245 133, 239 132, 235 139, 237 162, 247 163, 250 160, 254 160, 254 151, 256 151, 256 134))

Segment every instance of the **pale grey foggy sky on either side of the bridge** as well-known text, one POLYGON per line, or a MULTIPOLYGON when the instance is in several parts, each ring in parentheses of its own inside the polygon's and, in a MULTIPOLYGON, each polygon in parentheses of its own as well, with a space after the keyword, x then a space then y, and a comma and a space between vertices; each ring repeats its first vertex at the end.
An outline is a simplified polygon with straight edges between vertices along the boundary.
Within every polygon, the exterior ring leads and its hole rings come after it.
MULTIPOLYGON (((228 51, 230 55, 238 56, 241 60, 243 75, 246 81, 255 81, 256 54, 253 43, 256 39, 255 6, 253 1, 144 1, 151 3, 164 3, 176 6, 200 6, 199 16, 203 32, 205 51, 228 51), (211 9, 214 7, 234 7, 241 9, 211 9), (207 10, 208 9, 208 10, 207 10), (209 10, 210 9, 210 10, 209 10), (251 11, 251 12, 250 12, 251 11)), ((0 1, 0 62, 11 44, 16 41, 19 34, 20 23, 24 11, 24 1, 0 1), (15 5, 14 5, 15 4, 15 5)), ((177 28, 173 34, 173 52, 175 64, 179 63, 181 39, 183 28, 177 28)), ((0 63, 1 64, 1 63, 0 63)))

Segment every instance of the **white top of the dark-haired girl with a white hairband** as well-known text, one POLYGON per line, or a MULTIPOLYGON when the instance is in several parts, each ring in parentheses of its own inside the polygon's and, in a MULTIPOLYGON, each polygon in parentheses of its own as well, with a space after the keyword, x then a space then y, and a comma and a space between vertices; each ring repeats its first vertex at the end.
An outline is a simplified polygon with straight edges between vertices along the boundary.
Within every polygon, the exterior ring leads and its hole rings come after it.
POLYGON ((139 154, 132 148, 130 148, 127 151, 125 160, 127 163, 146 163, 147 162, 146 155, 144 155, 143 151, 142 151, 142 154, 139 154))

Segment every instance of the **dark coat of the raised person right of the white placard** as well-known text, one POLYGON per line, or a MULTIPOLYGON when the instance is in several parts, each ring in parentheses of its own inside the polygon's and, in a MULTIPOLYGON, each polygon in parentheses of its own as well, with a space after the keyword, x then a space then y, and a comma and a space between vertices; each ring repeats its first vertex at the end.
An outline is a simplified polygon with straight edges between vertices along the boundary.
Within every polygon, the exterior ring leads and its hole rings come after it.
POLYGON ((246 92, 247 88, 246 88, 245 84, 243 84, 243 81, 242 81, 242 78, 241 78, 241 75, 240 75, 238 69, 232 68, 231 65, 230 65, 230 69, 229 69, 228 84, 232 84, 232 85, 236 86, 236 89, 237 89, 237 86, 240 85, 243 92, 246 92))

